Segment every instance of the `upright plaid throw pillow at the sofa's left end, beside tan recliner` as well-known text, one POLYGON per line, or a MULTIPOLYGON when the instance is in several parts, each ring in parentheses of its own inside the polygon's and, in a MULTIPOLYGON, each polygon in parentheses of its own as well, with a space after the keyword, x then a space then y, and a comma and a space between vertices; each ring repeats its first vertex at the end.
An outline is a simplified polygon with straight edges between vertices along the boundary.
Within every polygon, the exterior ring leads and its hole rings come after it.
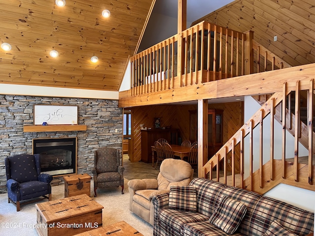
POLYGON ((175 210, 197 211, 196 188, 191 186, 171 186, 168 207, 175 210))

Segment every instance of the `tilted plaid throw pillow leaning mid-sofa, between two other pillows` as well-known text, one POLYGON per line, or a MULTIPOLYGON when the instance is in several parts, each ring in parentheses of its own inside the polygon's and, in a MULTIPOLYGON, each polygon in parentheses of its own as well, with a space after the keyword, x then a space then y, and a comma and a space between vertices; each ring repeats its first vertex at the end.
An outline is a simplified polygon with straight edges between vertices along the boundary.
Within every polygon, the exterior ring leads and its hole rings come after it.
POLYGON ((233 234, 241 224, 246 211, 247 207, 243 203, 224 196, 209 221, 225 233, 233 234))

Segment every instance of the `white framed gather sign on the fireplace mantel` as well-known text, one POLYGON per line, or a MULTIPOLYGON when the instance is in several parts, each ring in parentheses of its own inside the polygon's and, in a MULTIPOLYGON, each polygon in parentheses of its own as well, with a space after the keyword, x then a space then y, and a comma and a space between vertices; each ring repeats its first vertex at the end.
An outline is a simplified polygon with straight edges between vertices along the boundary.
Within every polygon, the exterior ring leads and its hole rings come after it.
POLYGON ((78 124, 78 106, 34 105, 34 125, 78 124))

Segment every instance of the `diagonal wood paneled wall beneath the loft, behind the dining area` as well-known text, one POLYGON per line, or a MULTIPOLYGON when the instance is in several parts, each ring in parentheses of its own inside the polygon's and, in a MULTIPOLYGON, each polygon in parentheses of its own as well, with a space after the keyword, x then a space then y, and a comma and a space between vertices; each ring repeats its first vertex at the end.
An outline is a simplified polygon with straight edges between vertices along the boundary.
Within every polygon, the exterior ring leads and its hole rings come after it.
MULTIPOLYGON (((223 112, 223 143, 225 143, 243 125, 243 102, 209 104, 209 109, 221 109, 223 112)), ((189 111, 197 110, 195 105, 155 105, 133 107, 131 110, 132 131, 130 161, 141 160, 140 124, 154 128, 154 118, 160 118, 160 126, 180 130, 182 140, 189 139, 189 111)))

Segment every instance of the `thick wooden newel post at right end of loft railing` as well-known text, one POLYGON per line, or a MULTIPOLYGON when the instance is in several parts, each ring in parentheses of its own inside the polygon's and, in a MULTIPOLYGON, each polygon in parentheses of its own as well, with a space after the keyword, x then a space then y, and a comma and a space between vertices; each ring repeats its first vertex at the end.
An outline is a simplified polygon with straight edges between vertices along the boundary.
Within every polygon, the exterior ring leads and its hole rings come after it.
POLYGON ((245 40, 245 46, 244 46, 244 52, 245 52, 245 58, 244 58, 244 74, 249 75, 252 74, 254 71, 253 61, 253 49, 252 49, 252 40, 254 37, 254 32, 252 30, 249 30, 246 33, 246 40, 245 40))

